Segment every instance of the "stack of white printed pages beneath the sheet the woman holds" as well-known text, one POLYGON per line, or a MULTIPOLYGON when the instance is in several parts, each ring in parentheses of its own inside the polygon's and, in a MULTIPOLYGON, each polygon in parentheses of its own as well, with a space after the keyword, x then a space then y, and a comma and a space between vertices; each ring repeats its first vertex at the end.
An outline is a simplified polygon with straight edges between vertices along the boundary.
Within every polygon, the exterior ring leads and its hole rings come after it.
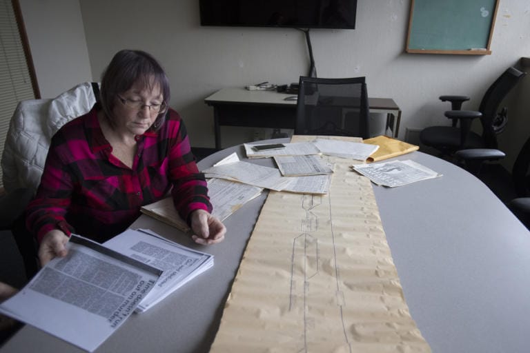
POLYGON ((145 312, 213 266, 213 255, 168 241, 150 230, 128 229, 104 245, 164 271, 153 290, 137 306, 137 312, 145 312))

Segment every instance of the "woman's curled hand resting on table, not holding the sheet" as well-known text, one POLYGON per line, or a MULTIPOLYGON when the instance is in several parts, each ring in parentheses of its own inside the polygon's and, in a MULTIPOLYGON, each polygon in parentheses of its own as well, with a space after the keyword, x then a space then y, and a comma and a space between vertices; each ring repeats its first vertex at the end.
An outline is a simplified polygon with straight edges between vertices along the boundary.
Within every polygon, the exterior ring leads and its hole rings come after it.
POLYGON ((205 210, 195 210, 191 213, 191 230, 195 243, 202 245, 219 243, 226 234, 224 224, 205 210))

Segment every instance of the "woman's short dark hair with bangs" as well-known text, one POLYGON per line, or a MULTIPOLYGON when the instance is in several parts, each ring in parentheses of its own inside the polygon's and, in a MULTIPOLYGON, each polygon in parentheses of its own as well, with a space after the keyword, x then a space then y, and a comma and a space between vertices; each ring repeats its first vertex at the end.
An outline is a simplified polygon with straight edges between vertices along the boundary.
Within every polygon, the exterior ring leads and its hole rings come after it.
MULTIPOLYGON (((169 79, 158 61, 147 52, 141 50, 120 50, 115 54, 101 77, 101 108, 108 122, 114 126, 112 110, 116 104, 118 94, 130 90, 135 83, 141 83, 142 88, 152 89, 153 85, 160 85, 162 97, 169 103, 169 79)), ((161 112, 151 129, 157 130, 161 126, 166 112, 161 112)))

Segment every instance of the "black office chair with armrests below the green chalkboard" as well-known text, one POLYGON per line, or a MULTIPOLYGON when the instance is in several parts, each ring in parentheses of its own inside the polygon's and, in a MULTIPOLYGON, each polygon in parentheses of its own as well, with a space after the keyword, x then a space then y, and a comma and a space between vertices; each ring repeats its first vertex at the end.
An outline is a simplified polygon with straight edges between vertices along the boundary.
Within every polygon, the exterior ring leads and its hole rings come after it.
MULTIPOLYGON (((442 96, 442 101, 451 101, 451 108, 445 116, 453 121, 451 126, 431 126, 420 132, 420 141, 440 151, 442 156, 452 156, 458 150, 469 148, 497 149, 497 137, 507 123, 507 109, 499 111, 502 99, 524 77, 526 72, 508 68, 488 88, 478 111, 460 110, 466 96, 442 96), (480 118, 482 134, 471 131, 473 119, 480 118), (460 122, 458 126, 457 122, 460 122)), ((504 154, 491 152, 490 160, 503 158, 504 154)))

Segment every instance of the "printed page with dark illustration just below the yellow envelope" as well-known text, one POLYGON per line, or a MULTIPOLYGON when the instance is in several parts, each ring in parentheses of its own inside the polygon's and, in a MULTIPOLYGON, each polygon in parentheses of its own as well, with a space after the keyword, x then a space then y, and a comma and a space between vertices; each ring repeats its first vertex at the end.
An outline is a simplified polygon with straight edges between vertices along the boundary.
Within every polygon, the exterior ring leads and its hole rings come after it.
POLYGON ((373 183, 391 188, 442 176, 411 160, 357 164, 352 165, 351 168, 369 178, 373 183))

